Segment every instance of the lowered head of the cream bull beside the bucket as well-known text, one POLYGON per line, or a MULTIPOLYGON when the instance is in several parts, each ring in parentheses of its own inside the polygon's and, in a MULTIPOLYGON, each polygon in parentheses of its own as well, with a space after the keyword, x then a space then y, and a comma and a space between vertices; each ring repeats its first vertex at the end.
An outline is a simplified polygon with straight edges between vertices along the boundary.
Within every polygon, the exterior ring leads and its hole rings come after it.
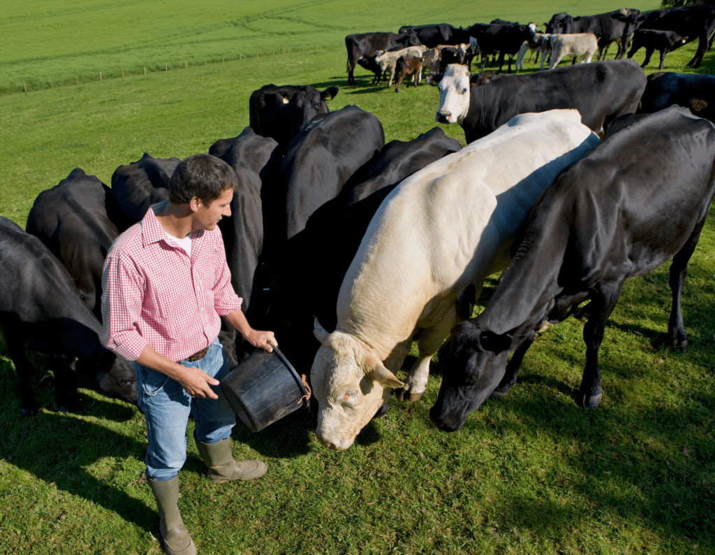
POLYGON ((370 348, 343 332, 328 334, 315 319, 315 337, 322 344, 310 370, 318 401, 317 439, 338 451, 380 410, 393 387, 403 387, 370 348))

